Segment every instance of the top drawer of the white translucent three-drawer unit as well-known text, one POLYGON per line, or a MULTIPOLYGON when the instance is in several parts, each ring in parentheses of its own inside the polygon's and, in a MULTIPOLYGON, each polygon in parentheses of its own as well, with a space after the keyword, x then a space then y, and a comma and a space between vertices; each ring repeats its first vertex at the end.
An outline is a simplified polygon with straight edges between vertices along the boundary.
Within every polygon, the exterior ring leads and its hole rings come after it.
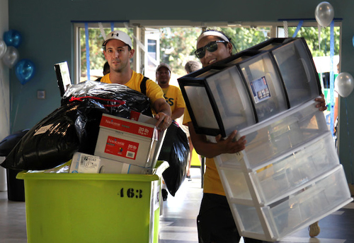
MULTIPOLYGON (((296 146, 326 133, 328 127, 316 102, 282 112, 271 119, 241 129, 237 138, 246 136, 244 162, 248 168, 263 167, 264 163, 296 146)), ((219 155, 222 165, 240 165, 236 154, 219 155)))

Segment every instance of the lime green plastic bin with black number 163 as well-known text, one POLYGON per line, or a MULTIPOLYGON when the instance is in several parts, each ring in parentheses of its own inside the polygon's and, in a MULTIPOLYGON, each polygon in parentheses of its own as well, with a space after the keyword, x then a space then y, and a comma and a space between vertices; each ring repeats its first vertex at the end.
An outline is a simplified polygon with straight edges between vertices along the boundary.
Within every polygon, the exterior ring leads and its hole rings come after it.
POLYGON ((156 174, 20 172, 28 243, 159 242, 156 174))

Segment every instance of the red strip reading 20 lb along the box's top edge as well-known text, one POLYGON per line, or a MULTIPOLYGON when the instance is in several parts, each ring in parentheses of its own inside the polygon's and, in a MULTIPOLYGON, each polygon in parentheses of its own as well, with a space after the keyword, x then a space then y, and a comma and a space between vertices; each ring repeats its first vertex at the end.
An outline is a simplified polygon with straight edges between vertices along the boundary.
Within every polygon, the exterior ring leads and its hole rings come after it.
POLYGON ((125 121, 122 119, 115 119, 113 117, 102 116, 100 126, 105 126, 110 129, 126 131, 130 134, 137 134, 139 136, 144 136, 147 138, 152 138, 154 134, 154 127, 144 126, 142 124, 137 124, 129 120, 125 121))

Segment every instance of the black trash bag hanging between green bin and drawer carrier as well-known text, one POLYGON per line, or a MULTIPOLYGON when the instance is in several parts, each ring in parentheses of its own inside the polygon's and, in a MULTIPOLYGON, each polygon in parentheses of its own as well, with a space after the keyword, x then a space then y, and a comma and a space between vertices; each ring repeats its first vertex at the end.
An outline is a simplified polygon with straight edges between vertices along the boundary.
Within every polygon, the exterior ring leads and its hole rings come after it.
POLYGON ((162 173, 162 176, 170 194, 175 196, 187 175, 189 160, 188 138, 176 121, 173 121, 166 131, 159 160, 169 162, 169 167, 162 173))

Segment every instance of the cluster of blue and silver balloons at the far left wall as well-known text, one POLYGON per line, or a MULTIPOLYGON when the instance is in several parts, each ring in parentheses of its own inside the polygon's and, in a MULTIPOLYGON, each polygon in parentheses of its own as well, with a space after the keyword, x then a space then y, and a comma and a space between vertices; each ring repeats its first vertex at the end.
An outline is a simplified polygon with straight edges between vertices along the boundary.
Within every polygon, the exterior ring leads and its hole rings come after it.
POLYGON ((8 30, 4 32, 4 40, 0 39, 0 59, 9 69, 15 66, 15 73, 21 84, 30 81, 35 75, 35 65, 28 59, 19 59, 18 46, 22 42, 20 32, 17 30, 8 30))

